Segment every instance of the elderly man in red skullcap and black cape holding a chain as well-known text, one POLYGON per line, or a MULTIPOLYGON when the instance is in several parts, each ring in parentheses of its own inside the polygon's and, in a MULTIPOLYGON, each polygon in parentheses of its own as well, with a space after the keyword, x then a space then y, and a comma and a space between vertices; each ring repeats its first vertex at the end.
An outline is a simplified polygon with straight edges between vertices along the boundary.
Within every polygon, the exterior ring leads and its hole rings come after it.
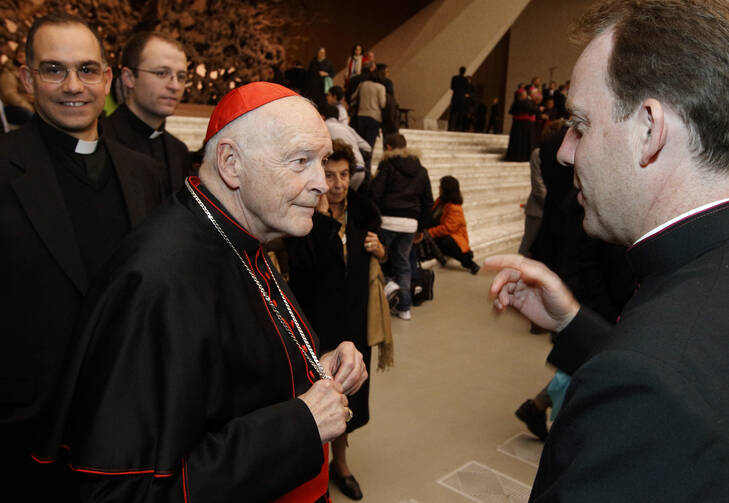
POLYGON ((331 148, 284 87, 218 104, 200 178, 130 235, 86 305, 66 438, 84 501, 326 501, 326 444, 367 371, 351 342, 318 356, 261 244, 311 230, 331 148))

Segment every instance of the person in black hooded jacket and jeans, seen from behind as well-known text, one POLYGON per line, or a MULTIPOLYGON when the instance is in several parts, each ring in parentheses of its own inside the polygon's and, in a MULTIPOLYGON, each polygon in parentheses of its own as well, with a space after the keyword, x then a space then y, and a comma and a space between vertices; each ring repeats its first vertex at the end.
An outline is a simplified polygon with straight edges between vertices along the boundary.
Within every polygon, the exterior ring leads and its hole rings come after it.
POLYGON ((400 286, 400 301, 395 314, 411 319, 410 249, 416 233, 430 221, 433 192, 428 171, 414 152, 407 150, 401 134, 385 137, 385 158, 372 179, 372 199, 382 213, 380 239, 387 247, 391 273, 400 286))

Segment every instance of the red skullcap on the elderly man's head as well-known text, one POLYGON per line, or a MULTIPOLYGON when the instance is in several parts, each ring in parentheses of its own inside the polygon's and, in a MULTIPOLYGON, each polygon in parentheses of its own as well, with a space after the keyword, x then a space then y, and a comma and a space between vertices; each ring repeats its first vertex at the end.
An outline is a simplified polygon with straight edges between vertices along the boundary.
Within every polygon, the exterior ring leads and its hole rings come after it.
POLYGON ((299 95, 291 89, 270 82, 251 82, 233 89, 215 105, 203 143, 207 143, 210 138, 215 136, 215 133, 241 115, 287 96, 299 95))

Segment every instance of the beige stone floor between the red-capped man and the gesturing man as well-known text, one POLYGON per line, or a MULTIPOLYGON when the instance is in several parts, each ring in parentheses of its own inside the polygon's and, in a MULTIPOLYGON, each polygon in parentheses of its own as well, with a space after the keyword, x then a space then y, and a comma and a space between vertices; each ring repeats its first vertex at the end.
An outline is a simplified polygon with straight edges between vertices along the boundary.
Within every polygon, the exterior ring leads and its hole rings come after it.
MULTIPOLYGON (((472 276, 453 261, 434 270, 435 299, 413 308, 409 322, 393 318, 395 367, 373 372, 370 423, 350 436, 365 502, 474 501, 436 482, 469 461, 529 486, 536 473, 497 449, 526 431, 514 411, 552 376, 548 336, 492 310, 490 274, 472 276)), ((331 493, 334 503, 350 501, 331 493)))

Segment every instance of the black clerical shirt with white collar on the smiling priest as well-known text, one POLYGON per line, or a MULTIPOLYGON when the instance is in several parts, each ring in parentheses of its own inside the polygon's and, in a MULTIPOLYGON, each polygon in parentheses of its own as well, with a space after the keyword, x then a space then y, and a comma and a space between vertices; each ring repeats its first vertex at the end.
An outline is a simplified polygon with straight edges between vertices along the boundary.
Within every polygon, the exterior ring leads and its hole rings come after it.
POLYGON ((96 146, 54 128, 37 115, 43 142, 54 164, 81 259, 88 277, 131 229, 124 196, 111 158, 99 136, 96 146), (85 152, 85 153, 79 153, 85 152))

